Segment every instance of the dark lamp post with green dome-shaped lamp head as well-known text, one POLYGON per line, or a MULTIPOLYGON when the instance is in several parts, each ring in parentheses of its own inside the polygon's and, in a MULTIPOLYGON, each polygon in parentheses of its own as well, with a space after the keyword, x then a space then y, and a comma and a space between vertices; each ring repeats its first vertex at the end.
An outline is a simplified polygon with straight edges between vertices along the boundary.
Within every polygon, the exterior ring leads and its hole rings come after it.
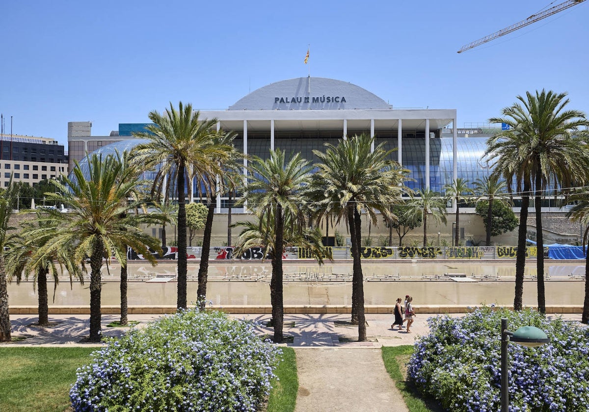
POLYGON ((544 331, 534 326, 522 326, 515 332, 507 330, 507 319, 501 318, 501 412, 508 412, 509 408, 509 360, 507 344, 509 341, 528 347, 541 346, 550 343, 550 338, 544 331))

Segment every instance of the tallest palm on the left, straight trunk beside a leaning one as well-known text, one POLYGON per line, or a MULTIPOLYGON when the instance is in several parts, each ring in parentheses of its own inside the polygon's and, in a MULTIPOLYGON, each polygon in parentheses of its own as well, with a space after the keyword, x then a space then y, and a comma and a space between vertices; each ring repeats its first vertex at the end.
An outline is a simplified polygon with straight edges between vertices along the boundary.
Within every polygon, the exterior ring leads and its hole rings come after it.
MULTIPOLYGON (((178 298, 177 307, 187 307, 187 248, 186 248, 186 181, 195 174, 207 178, 221 174, 218 160, 223 158, 226 147, 214 144, 217 136, 217 119, 200 118, 191 104, 180 102, 178 110, 170 103, 165 114, 152 111, 153 125, 147 132, 135 136, 148 141, 133 150, 133 161, 146 170, 156 170, 153 191, 166 193, 164 182, 176 181, 178 197, 178 298), (188 173, 187 173, 188 172, 188 173)), ((210 187, 210 185, 209 185, 210 187)))

